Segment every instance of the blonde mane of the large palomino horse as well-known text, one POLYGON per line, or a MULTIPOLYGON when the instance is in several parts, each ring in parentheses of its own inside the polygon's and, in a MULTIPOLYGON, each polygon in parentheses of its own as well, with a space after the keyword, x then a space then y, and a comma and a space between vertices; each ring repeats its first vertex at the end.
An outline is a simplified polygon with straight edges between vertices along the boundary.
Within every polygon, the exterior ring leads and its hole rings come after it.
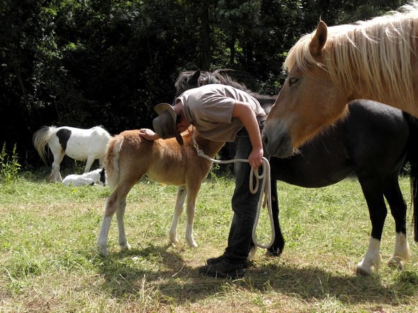
POLYGON ((387 93, 413 107, 412 56, 418 30, 418 2, 399 12, 355 24, 328 27, 327 42, 318 63, 309 50, 314 33, 304 35, 288 52, 284 70, 295 65, 309 73, 310 65, 323 67, 337 86, 358 88, 355 77, 372 95, 387 93))

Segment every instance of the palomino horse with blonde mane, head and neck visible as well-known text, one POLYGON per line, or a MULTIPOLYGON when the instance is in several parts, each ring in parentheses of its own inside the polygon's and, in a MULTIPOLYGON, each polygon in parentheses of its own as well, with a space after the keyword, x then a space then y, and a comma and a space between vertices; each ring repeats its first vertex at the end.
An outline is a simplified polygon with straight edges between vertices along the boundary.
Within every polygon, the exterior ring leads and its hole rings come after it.
POLYGON ((286 157, 346 114, 353 99, 372 99, 418 117, 418 3, 367 22, 319 22, 288 52, 288 77, 265 122, 270 155, 286 157))

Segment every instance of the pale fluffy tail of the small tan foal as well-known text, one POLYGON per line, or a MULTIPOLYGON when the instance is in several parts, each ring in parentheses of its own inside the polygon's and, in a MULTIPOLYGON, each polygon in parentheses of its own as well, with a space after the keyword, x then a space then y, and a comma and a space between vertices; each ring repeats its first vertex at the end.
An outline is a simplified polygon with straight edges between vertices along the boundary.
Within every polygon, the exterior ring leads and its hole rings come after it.
POLYGON ((109 141, 106 157, 104 158, 104 168, 107 175, 107 185, 110 190, 114 190, 119 182, 119 152, 123 144, 123 136, 114 136, 109 141))

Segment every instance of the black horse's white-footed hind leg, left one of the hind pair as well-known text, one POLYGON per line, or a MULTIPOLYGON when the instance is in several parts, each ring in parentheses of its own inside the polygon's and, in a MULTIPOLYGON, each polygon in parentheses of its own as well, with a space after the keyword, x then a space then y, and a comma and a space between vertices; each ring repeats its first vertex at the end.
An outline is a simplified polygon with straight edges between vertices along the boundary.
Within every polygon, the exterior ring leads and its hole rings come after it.
POLYGON ((359 183, 362 186, 364 198, 366 198, 367 206, 369 207, 371 236, 369 249, 362 262, 357 264, 357 273, 370 275, 372 267, 376 272, 380 267, 382 259, 380 256, 380 240, 382 239, 383 225, 385 225, 387 207, 383 198, 381 179, 376 177, 359 177, 359 183))

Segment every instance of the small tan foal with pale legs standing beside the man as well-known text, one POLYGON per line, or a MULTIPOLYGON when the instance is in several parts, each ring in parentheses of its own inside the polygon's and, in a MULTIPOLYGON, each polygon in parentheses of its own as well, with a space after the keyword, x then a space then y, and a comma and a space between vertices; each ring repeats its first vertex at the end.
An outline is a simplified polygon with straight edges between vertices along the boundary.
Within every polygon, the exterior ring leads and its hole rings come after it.
MULTIPOLYGON (((107 236, 111 218, 116 212, 118 242, 122 249, 130 248, 125 235, 123 215, 126 196, 143 175, 162 184, 178 186, 176 206, 169 232, 171 243, 177 242, 177 225, 187 195, 187 222, 185 238, 189 246, 197 247, 193 239, 193 221, 196 196, 212 162, 199 157, 194 149, 191 127, 181 134, 184 145, 176 138, 147 141, 139 130, 123 131, 109 142, 105 157, 107 182, 113 192, 106 201, 104 218, 98 236, 100 255, 107 256, 107 236)), ((224 143, 208 141, 196 131, 196 142, 209 157, 215 157, 224 143)))

